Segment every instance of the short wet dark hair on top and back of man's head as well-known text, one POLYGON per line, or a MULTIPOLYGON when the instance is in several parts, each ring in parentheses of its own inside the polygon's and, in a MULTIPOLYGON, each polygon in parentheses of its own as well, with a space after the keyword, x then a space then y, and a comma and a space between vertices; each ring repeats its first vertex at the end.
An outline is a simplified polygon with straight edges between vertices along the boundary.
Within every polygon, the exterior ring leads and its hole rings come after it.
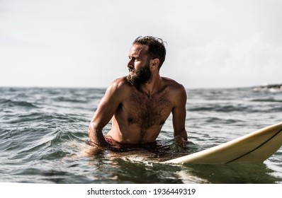
POLYGON ((148 51, 147 54, 150 59, 159 59, 159 69, 161 68, 164 60, 166 59, 167 50, 164 46, 164 41, 158 37, 137 37, 132 45, 140 44, 140 45, 147 45, 148 51))

